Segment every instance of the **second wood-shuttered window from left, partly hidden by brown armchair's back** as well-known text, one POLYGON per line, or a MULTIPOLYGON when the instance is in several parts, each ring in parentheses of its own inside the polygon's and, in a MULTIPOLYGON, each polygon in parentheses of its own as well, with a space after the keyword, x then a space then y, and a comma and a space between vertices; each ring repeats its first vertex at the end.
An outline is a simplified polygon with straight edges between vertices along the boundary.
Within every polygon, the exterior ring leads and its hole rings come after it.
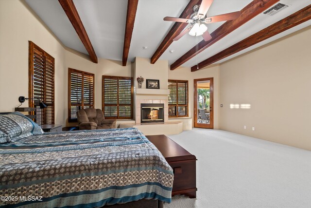
POLYGON ((94 108, 94 74, 68 69, 68 121, 77 121, 80 109, 94 108))

